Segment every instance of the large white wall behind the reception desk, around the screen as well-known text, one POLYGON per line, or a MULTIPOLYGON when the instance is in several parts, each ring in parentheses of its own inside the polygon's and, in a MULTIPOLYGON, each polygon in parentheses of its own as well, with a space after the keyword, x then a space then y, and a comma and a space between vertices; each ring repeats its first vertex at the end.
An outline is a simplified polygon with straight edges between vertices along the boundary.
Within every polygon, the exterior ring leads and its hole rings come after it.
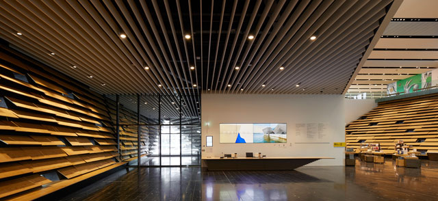
POLYGON ((267 157, 335 157, 309 165, 344 165, 344 148, 333 147, 333 142, 345 142, 342 95, 202 94, 201 98, 203 157, 261 152, 267 157), (287 143, 220 144, 220 123, 287 123, 287 143), (328 123, 329 143, 296 144, 296 123, 328 123), (205 147, 207 135, 214 136, 212 148, 205 147))

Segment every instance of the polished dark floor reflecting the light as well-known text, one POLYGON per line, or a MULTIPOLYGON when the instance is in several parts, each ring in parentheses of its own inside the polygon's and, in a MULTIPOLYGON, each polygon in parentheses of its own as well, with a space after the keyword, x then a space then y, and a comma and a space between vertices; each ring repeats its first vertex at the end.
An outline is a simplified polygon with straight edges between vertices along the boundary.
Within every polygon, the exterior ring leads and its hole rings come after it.
POLYGON ((356 167, 201 172, 143 167, 103 178, 61 200, 438 200, 438 161, 421 169, 356 161, 356 167))

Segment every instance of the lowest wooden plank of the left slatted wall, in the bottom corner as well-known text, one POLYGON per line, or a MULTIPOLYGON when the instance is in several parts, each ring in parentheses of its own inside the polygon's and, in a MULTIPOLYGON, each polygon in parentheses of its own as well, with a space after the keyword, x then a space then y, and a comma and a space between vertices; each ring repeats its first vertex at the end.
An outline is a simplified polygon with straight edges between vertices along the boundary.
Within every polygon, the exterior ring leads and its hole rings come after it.
POLYGON ((51 180, 39 176, 38 174, 24 176, 13 180, 6 180, 0 182, 0 198, 40 187, 48 183, 51 183, 51 180))

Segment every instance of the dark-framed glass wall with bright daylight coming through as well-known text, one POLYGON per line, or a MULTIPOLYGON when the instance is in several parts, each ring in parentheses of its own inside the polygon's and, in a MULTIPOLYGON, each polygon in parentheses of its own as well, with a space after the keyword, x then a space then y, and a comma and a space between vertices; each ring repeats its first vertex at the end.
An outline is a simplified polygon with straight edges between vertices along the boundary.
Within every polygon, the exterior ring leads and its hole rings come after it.
POLYGON ((118 95, 107 98, 114 107, 110 109, 116 118, 112 120, 114 127, 117 122, 119 125, 121 160, 142 166, 200 165, 201 117, 197 97, 118 95))

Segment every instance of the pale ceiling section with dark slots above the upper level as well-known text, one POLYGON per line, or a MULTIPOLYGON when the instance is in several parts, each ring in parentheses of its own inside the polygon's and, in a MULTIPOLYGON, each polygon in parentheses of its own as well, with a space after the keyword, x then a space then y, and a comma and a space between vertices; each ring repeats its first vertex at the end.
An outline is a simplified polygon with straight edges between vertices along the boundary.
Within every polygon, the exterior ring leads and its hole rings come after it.
POLYGON ((404 0, 346 97, 364 92, 384 97, 387 83, 438 68, 437 8, 436 0, 404 0))

